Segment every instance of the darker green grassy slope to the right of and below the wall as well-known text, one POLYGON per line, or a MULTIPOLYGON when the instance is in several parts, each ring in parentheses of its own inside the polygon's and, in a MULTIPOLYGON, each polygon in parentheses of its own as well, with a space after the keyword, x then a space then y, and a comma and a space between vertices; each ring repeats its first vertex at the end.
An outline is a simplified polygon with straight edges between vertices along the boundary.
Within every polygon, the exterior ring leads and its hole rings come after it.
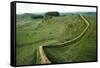
POLYGON ((44 48, 47 57, 53 63, 95 61, 96 60, 96 19, 86 16, 90 27, 82 39, 70 46, 44 48))

